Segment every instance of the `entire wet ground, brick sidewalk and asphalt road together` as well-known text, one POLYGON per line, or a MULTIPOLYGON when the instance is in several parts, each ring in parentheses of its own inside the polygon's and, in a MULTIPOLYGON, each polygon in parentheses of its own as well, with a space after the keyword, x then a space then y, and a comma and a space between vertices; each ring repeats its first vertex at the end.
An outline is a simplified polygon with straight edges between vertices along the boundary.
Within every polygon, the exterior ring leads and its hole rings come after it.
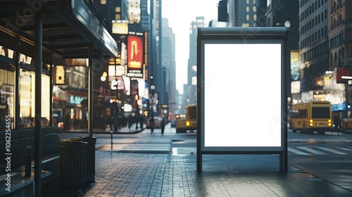
MULTIPOLYGON (((196 132, 167 125, 137 134, 94 134, 96 182, 82 196, 351 196, 352 134, 289 131, 289 172, 278 155, 203 155, 196 173, 196 132)), ((63 136, 76 134, 62 133, 63 136)), ((78 134, 82 136, 81 134, 78 134)), ((77 193, 76 193, 77 194, 77 193)))

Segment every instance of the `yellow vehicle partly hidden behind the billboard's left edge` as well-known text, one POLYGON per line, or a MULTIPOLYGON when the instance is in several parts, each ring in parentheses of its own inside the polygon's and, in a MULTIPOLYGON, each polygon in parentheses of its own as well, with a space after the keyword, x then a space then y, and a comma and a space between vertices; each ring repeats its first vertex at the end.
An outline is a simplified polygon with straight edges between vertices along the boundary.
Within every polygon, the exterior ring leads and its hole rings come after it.
POLYGON ((177 120, 176 132, 187 132, 197 129, 197 106, 196 104, 190 104, 186 106, 185 117, 177 120))

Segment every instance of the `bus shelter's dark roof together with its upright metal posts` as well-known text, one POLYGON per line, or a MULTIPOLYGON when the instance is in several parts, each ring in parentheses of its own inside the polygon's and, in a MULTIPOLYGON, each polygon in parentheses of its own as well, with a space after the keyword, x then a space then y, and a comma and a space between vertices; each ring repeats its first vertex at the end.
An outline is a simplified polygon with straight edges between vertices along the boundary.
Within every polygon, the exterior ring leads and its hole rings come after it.
MULTIPOLYGON (((55 61, 65 58, 89 59, 88 135, 92 136, 93 59, 113 58, 118 53, 117 44, 106 30, 106 26, 103 25, 101 15, 96 15, 96 10, 92 8, 92 1, 4 0, 0 4, 0 45, 15 51, 16 73, 20 71, 20 54, 34 59, 36 76, 42 75, 42 63, 54 65, 55 61)), ((15 78, 18 83, 18 75, 15 78)), ((35 77, 35 111, 37 113, 34 128, 34 182, 36 196, 40 196, 41 191, 41 84, 41 77, 35 77)), ((18 91, 19 89, 16 88, 16 95, 19 95, 18 91)), ((50 95, 52 97, 52 88, 50 95)), ((17 96, 16 105, 19 105, 18 99, 17 96)), ((17 108, 14 119, 19 120, 19 118, 17 108)))

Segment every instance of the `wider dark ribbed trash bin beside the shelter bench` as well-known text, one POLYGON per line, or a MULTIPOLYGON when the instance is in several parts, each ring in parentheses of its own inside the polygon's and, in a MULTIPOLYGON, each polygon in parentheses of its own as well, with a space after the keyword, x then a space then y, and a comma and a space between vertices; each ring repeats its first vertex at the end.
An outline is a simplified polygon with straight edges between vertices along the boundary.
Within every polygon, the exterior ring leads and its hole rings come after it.
POLYGON ((87 183, 88 143, 77 139, 60 140, 60 184, 83 186, 87 183))

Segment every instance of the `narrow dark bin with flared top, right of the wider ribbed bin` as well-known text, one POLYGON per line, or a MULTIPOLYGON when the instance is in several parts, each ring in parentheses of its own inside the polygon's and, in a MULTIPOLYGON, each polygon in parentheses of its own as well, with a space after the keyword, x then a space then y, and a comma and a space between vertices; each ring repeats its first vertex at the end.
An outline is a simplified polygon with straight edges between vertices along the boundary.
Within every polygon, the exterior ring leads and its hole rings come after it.
POLYGON ((87 151, 87 182, 95 181, 95 136, 81 136, 82 141, 88 143, 87 151))

